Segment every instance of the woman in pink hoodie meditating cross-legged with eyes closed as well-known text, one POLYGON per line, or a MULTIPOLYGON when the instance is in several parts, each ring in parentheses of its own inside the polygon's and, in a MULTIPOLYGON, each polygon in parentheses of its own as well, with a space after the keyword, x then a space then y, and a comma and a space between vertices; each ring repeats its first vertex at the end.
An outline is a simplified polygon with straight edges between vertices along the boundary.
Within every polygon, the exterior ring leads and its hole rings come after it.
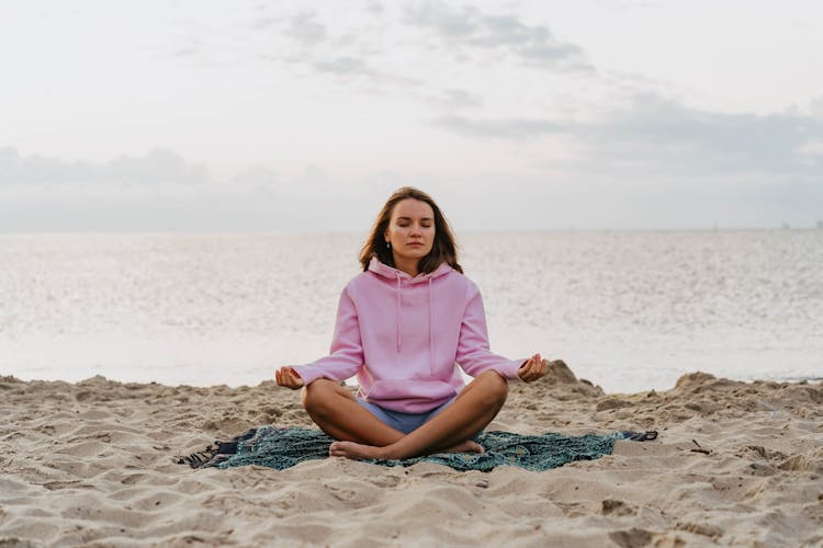
POLYGON ((545 375, 540 354, 488 350, 477 287, 462 275, 448 221, 428 194, 395 192, 360 252, 363 272, 342 292, 330 354, 275 372, 305 387, 312 420, 338 439, 329 455, 408 458, 476 452, 472 439, 506 401, 508 380, 545 375), (474 377, 464 386, 458 367, 474 377), (358 376, 354 397, 339 385, 358 376))

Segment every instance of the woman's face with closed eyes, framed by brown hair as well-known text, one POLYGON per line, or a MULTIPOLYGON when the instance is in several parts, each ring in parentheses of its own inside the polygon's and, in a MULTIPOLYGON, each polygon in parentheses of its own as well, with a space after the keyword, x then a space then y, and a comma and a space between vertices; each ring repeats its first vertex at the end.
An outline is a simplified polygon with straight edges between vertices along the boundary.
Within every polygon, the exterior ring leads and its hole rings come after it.
POLYGON ((435 243, 435 210, 415 198, 397 202, 383 237, 392 244, 395 262, 419 261, 435 243))

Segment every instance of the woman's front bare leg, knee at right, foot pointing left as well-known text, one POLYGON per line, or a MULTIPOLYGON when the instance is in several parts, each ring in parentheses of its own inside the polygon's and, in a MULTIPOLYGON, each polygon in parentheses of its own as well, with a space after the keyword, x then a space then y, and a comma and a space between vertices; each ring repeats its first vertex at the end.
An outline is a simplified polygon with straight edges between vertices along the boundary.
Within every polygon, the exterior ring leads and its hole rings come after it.
POLYGON ((476 450, 477 444, 469 438, 494 420, 507 396, 507 380, 496 372, 485 372, 460 392, 454 403, 408 435, 383 445, 335 442, 329 447, 329 455, 392 459, 415 457, 447 447, 450 450, 476 450))

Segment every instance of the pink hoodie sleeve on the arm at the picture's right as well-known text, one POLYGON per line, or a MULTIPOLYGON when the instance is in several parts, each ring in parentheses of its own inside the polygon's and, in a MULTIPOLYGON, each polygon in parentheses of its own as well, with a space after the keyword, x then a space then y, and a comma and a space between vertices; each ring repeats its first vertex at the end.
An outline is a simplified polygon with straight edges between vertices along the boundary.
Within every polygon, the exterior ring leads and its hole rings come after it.
POLYGON ((472 377, 492 369, 499 373, 504 378, 519 380, 517 370, 526 363, 526 359, 507 359, 488 350, 488 332, 483 297, 476 288, 473 287, 472 289, 460 326, 458 364, 472 377))

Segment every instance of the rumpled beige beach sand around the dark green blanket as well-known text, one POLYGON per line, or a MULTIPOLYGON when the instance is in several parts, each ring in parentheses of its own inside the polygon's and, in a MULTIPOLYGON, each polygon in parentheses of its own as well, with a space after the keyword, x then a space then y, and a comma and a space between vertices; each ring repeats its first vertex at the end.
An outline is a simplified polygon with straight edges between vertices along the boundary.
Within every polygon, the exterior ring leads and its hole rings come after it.
POLYGON ((554 363, 491 430, 659 437, 544 472, 174 461, 270 423, 311 424, 298 392, 0 377, 0 546, 823 546, 820 383, 604 395, 554 363))

